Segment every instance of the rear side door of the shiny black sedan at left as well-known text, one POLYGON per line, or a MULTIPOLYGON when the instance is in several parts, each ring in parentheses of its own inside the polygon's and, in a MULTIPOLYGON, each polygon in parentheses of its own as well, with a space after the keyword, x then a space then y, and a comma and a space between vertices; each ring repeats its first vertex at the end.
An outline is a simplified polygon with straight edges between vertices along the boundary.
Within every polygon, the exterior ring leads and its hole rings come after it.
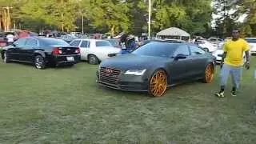
POLYGON ((38 49, 38 46, 38 39, 27 38, 25 46, 21 48, 22 61, 34 62, 34 50, 38 49))

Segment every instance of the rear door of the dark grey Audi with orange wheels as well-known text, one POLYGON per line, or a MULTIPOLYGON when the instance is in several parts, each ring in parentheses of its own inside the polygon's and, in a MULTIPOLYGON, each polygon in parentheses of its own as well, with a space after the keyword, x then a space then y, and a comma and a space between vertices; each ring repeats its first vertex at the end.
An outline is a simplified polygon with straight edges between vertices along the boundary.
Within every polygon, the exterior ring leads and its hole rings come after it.
POLYGON ((194 45, 190 45, 191 61, 190 65, 193 67, 191 69, 192 78, 201 77, 205 71, 207 56, 206 52, 202 48, 194 45))

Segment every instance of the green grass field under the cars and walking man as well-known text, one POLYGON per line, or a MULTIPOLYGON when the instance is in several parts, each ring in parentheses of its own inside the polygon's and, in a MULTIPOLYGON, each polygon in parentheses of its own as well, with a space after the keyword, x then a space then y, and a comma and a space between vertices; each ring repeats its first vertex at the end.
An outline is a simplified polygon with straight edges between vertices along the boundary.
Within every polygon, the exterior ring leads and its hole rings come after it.
POLYGON ((35 70, 0 62, 0 143, 256 142, 256 58, 238 97, 215 82, 174 86, 161 98, 95 83, 98 66, 35 70))

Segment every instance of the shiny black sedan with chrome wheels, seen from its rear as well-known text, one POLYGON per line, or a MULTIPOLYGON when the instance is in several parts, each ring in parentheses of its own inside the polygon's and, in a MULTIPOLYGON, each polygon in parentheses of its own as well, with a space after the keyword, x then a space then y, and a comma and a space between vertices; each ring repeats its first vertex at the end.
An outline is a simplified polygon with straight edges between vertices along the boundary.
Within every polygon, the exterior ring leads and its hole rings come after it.
POLYGON ((46 66, 74 65, 80 61, 80 49, 56 38, 20 38, 3 48, 4 62, 28 62, 37 69, 46 66))

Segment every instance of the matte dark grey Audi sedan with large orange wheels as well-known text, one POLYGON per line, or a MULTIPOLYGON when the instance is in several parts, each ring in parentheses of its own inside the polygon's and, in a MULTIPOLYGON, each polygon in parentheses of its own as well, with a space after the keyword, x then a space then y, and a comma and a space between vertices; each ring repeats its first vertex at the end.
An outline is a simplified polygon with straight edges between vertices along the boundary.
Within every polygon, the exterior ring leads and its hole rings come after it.
POLYGON ((210 53, 189 43, 150 42, 131 54, 103 61, 96 82, 117 90, 148 91, 158 97, 168 86, 188 80, 213 82, 214 60, 210 53))

